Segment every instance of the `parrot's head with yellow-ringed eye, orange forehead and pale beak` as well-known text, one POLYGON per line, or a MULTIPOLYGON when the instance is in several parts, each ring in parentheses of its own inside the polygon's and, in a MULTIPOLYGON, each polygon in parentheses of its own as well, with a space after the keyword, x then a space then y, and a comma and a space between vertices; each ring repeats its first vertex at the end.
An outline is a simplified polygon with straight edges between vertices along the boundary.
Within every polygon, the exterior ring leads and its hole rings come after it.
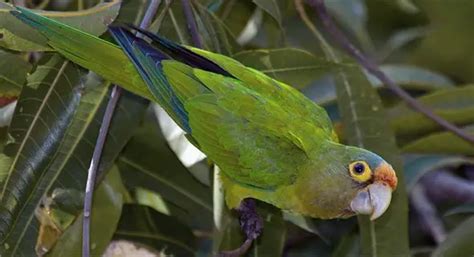
POLYGON ((317 218, 382 216, 397 187, 392 166, 368 150, 334 144, 319 153, 298 186, 304 213, 317 218), (324 181, 324 183, 321 183, 324 181), (307 208, 307 209, 306 209, 307 208))

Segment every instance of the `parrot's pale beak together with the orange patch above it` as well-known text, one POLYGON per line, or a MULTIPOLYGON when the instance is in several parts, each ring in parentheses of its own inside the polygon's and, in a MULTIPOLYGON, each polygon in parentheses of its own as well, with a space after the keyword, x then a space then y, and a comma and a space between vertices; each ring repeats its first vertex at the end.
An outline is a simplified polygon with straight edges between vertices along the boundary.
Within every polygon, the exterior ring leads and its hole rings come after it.
POLYGON ((374 182, 359 191, 351 201, 351 210, 356 214, 370 215, 370 220, 377 219, 387 210, 392 191, 397 187, 397 176, 388 163, 380 165, 374 174, 374 182))

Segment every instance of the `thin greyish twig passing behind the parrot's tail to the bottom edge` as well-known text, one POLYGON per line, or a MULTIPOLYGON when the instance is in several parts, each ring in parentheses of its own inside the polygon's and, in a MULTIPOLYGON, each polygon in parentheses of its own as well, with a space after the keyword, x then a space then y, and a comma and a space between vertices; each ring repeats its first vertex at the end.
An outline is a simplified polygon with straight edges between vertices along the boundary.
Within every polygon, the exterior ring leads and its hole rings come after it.
MULTIPOLYGON (((148 6, 148 9, 145 13, 140 28, 146 29, 155 16, 160 0, 152 0, 148 6)), ((102 119, 102 124, 100 126, 99 135, 97 137, 97 142, 92 154, 92 160, 89 166, 87 174, 87 183, 86 183, 86 192, 84 195, 84 216, 82 223, 82 256, 90 256, 90 222, 92 214, 92 199, 94 196, 94 186, 97 176, 97 169, 99 167, 100 158, 102 155, 102 150, 104 148, 105 140, 107 138, 107 132, 109 130, 110 122, 112 121, 112 116, 114 114, 115 107, 122 93, 122 89, 118 86, 114 86, 112 93, 110 94, 109 102, 107 103, 107 108, 105 110, 104 117, 102 119)))

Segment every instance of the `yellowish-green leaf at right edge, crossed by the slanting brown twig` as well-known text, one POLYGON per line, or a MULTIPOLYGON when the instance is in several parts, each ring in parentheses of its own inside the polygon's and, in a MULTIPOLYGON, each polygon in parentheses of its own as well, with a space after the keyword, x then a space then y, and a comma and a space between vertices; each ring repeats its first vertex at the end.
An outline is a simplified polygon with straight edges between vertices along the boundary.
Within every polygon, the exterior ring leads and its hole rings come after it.
MULTIPOLYGON (((474 85, 435 91, 417 100, 448 121, 463 126, 474 123, 474 85)), ((439 130, 438 124, 402 103, 390 109, 392 128, 397 135, 425 135, 439 130)))

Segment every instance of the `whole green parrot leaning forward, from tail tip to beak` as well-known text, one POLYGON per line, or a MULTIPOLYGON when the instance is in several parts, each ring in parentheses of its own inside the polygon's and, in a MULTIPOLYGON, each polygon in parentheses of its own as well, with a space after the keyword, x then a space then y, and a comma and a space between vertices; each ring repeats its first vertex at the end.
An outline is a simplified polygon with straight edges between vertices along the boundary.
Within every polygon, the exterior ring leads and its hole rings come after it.
POLYGON ((226 203, 240 211, 247 235, 229 255, 261 233, 253 199, 321 219, 373 220, 388 208, 397 186, 393 168, 339 143, 326 111, 293 87, 135 27, 109 29, 117 46, 27 9, 12 14, 66 58, 161 105, 220 167, 226 203))

